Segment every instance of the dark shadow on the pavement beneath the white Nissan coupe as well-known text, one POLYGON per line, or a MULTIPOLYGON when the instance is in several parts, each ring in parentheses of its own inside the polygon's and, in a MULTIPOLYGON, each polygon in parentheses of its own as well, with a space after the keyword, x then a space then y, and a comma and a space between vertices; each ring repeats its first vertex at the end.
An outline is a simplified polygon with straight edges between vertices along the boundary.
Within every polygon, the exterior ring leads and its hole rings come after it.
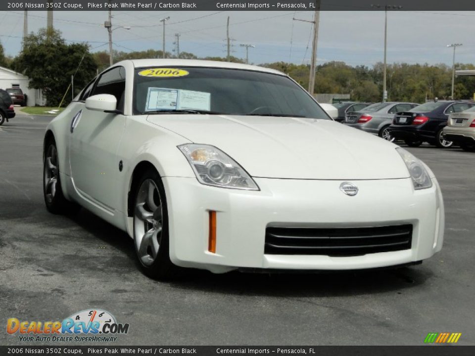
MULTIPOLYGON (((102 243, 119 250, 140 269, 129 235, 96 217, 85 209, 70 219, 102 243)), ((174 280, 155 281, 157 288, 170 287, 207 293, 248 296, 330 297, 355 296, 385 292, 401 294, 404 289, 423 285, 432 276, 424 265, 400 268, 379 268, 316 273, 251 273, 232 271, 214 274, 205 270, 184 268, 174 280)), ((142 278, 148 277, 142 274, 142 278)), ((138 282, 142 280, 138 279, 138 282)))

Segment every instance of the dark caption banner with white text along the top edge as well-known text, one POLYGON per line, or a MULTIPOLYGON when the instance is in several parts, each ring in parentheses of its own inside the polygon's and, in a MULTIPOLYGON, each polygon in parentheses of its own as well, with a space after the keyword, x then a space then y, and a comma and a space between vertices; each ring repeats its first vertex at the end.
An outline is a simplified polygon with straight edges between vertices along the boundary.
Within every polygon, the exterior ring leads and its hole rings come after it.
POLYGON ((0 10, 28 11, 392 11, 475 10, 473 0, 398 0, 397 8, 376 0, 12 0, 0 1, 0 10), (320 6, 320 8, 318 8, 320 6))

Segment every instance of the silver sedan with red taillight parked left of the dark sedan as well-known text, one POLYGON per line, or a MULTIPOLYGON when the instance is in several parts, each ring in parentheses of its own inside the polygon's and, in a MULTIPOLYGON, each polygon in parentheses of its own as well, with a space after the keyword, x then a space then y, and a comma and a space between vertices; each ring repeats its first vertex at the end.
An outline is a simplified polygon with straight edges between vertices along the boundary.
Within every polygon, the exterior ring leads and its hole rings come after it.
POLYGON ((418 105, 409 102, 379 102, 367 106, 361 111, 347 112, 344 124, 392 141, 387 128, 392 124, 394 115, 399 111, 408 111, 418 105))

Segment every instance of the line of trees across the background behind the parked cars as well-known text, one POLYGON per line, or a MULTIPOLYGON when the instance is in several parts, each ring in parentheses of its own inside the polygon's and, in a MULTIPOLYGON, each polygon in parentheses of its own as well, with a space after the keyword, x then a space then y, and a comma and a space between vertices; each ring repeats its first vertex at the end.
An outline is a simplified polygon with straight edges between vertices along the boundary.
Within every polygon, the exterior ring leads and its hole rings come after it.
MULTIPOLYGON (((115 62, 124 59, 162 58, 161 50, 114 51, 115 62)), ((176 58, 165 52, 165 58, 176 58)), ((181 59, 205 59, 226 61, 224 57, 198 58, 193 53, 181 52, 181 59)), ((232 56, 231 62, 244 63, 232 56)), ((308 87, 310 66, 274 62, 258 64, 288 74, 302 87, 308 87)), ((30 85, 43 89, 47 105, 58 105, 63 96, 65 103, 71 100, 71 75, 74 75, 75 94, 84 88, 97 73, 109 66, 107 51, 91 52, 84 43, 68 44, 56 30, 41 29, 31 33, 24 40, 21 52, 16 57, 4 55, 0 44, 0 66, 13 69, 28 76, 30 85)), ((457 69, 475 69, 473 64, 456 64, 457 69)), ((377 102, 382 96, 383 64, 373 66, 350 66, 344 62, 332 61, 317 66, 315 93, 350 94, 351 100, 377 102)), ((387 65, 386 87, 388 100, 422 103, 427 99, 449 98, 451 95, 452 68, 446 64, 393 63, 387 65)), ((460 77, 455 80, 454 97, 473 99, 475 77, 460 77)))

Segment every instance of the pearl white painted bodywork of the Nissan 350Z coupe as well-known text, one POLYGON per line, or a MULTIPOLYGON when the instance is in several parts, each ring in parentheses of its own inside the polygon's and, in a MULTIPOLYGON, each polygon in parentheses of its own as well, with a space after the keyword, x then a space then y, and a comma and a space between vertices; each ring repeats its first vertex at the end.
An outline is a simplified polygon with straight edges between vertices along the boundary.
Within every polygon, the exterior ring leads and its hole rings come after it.
POLYGON ((213 272, 236 268, 359 269, 421 261, 440 251, 443 199, 414 190, 396 145, 330 120, 227 115, 132 115, 136 67, 201 66, 275 70, 226 62, 133 60, 126 69, 124 114, 72 102, 47 127, 54 136, 63 194, 133 237, 128 214, 133 173, 141 162, 162 177, 168 202, 170 259, 213 272), (82 117, 70 133, 71 120, 82 117), (177 148, 214 145, 235 159, 259 191, 200 184, 177 148), (119 170, 119 162, 123 168, 119 170), (356 196, 339 189, 343 181, 356 196), (208 246, 208 212, 217 212, 216 253, 208 246), (413 224, 409 250, 353 257, 264 254, 268 226, 361 227, 413 224))

